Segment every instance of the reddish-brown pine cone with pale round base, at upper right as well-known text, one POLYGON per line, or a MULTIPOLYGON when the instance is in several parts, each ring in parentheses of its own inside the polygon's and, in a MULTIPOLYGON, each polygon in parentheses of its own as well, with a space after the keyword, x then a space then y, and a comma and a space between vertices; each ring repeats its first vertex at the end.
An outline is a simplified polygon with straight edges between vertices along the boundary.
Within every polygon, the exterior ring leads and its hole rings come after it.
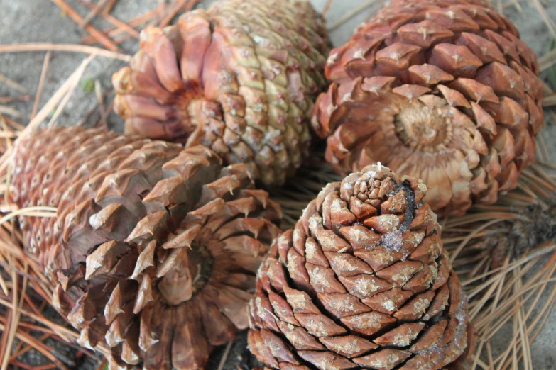
POLYGON ((478 0, 394 0, 330 52, 313 127, 344 173, 423 179, 442 215, 516 187, 543 128, 535 54, 478 0))

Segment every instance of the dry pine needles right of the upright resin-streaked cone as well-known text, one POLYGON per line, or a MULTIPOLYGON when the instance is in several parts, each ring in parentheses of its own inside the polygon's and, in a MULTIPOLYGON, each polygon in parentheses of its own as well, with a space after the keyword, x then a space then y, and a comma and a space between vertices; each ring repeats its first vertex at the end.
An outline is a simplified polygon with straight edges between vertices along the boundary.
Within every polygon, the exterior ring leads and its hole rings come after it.
POLYGON ((523 255, 506 257, 497 268, 491 266, 489 250, 481 250, 483 240, 506 232, 501 224, 534 218, 534 213, 528 213, 534 206, 556 208, 556 176, 549 166, 535 163, 525 169, 518 188, 493 206, 476 206, 468 215, 445 220, 442 239, 469 296, 471 320, 479 332, 472 369, 517 369, 518 364, 533 369, 530 344, 555 302, 553 235, 523 255), (549 296, 545 302, 540 300, 543 293, 549 296), (533 316, 534 312, 538 313, 533 316), (511 338, 501 334, 508 325, 513 330, 511 338), (506 349, 492 357, 491 342, 506 349))

